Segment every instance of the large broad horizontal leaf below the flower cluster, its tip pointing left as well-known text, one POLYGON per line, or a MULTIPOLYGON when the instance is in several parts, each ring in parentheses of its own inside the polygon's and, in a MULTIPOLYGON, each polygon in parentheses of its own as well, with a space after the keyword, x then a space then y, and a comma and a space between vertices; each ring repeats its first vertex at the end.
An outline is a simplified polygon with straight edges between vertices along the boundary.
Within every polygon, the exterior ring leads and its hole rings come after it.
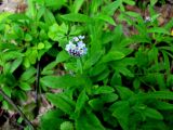
POLYGON ((79 87, 84 83, 79 77, 65 76, 44 76, 41 78, 41 83, 50 88, 70 88, 79 87))

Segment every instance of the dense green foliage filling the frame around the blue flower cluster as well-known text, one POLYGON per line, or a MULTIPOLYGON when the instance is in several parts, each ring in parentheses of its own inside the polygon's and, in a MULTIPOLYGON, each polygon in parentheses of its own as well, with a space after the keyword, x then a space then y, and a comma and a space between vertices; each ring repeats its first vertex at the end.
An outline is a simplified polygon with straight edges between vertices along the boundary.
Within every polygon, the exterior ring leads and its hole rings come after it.
POLYGON ((160 26, 157 3, 149 18, 125 10, 134 0, 28 0, 25 14, 1 13, 0 89, 29 120, 45 96, 41 130, 171 130, 173 20, 160 26), (78 36, 88 50, 76 56, 67 44, 78 36))

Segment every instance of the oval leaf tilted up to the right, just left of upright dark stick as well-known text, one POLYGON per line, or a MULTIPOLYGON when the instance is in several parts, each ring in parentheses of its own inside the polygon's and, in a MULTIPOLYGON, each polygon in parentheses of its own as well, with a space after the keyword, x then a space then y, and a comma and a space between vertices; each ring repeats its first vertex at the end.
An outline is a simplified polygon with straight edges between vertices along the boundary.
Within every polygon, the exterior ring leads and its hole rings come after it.
POLYGON ((19 77, 19 79, 23 80, 23 81, 27 81, 27 80, 29 80, 35 74, 36 74, 36 68, 30 67, 30 68, 28 68, 26 72, 24 72, 24 73, 22 74, 22 76, 19 77))

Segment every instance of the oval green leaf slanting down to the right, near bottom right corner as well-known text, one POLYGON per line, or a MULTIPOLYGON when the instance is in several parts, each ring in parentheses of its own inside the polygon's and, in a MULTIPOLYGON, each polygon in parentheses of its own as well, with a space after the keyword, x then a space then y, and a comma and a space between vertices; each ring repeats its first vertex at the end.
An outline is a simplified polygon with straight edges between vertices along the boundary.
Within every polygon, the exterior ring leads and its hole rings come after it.
POLYGON ((158 110, 156 110, 154 108, 146 107, 143 113, 145 116, 147 116, 149 118, 154 118, 154 119, 158 119, 158 120, 163 119, 163 116, 158 110))

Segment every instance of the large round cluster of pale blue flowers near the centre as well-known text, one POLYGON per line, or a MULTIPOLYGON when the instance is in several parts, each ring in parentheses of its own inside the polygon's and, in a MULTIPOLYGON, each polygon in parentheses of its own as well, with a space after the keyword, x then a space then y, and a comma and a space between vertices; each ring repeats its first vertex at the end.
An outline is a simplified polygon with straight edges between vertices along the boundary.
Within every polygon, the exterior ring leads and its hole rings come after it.
POLYGON ((72 56, 80 57, 86 54, 88 49, 83 42, 84 36, 74 37, 71 41, 66 44, 65 50, 72 56))

